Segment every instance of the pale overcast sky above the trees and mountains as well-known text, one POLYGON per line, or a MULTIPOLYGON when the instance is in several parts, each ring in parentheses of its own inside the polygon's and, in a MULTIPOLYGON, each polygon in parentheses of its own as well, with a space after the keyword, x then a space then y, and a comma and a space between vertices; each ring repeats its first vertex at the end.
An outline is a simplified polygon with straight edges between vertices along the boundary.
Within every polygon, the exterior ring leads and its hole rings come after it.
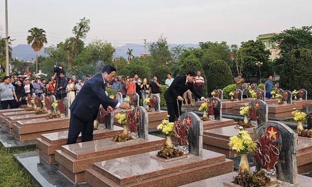
MULTIPOLYGON (((73 36, 79 19, 90 19, 86 44, 103 39, 113 46, 256 40, 260 34, 312 26, 311 0, 8 0, 12 46, 27 44, 32 27, 47 32, 45 47, 73 36)), ((0 0, 1 37, 5 37, 5 0, 0 0)))

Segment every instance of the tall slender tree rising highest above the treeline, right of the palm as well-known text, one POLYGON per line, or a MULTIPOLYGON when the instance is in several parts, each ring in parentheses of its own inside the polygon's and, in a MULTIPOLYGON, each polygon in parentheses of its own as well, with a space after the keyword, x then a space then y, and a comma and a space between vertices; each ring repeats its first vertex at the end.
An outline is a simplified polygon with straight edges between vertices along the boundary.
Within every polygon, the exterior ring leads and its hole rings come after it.
POLYGON ((67 45, 67 56, 68 56, 68 70, 69 72, 72 71, 72 60, 73 56, 77 53, 75 50, 75 45, 78 39, 85 39, 87 37, 87 33, 90 31, 90 20, 83 17, 80 19, 79 23, 76 23, 74 26, 72 33, 75 35, 73 37, 72 44, 67 45))

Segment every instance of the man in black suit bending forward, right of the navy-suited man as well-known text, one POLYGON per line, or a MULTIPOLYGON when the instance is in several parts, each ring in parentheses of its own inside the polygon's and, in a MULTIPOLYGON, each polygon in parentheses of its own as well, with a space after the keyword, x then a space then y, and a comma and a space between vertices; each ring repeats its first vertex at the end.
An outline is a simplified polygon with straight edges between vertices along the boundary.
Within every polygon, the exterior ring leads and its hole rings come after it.
POLYGON ((169 117, 169 122, 175 122, 181 115, 181 105, 182 105, 182 95, 187 90, 190 90, 199 99, 208 102, 208 100, 198 93, 194 86, 194 80, 196 78, 195 71, 190 71, 188 75, 180 75, 176 77, 171 83, 170 87, 164 94, 164 98, 167 104, 167 111, 169 117))

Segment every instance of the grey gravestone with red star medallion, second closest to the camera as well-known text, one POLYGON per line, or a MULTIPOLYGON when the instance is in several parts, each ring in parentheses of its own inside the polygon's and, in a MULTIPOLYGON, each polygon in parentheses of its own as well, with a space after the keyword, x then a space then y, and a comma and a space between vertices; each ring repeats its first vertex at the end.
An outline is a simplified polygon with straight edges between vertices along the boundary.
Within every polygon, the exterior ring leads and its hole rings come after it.
POLYGON ((191 154, 203 156, 203 121, 194 112, 185 112, 180 117, 189 127, 189 151, 191 154))

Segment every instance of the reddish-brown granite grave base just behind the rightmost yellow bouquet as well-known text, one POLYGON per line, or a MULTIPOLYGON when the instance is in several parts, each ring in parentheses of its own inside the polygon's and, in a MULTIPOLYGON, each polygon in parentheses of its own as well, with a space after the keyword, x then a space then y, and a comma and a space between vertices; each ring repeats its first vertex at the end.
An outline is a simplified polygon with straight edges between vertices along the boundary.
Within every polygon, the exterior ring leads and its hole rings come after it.
POLYGON ((292 111, 302 109, 302 104, 269 104, 268 105, 268 117, 280 118, 292 116, 292 111))

